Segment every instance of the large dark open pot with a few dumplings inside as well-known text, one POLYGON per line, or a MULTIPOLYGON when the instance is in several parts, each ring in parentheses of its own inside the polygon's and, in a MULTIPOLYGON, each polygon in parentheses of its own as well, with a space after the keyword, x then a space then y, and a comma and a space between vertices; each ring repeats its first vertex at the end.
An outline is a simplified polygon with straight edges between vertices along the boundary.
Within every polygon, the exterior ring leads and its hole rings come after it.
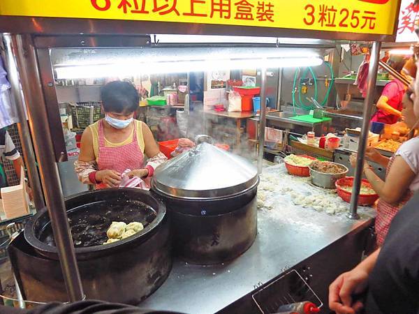
MULTIPOLYGON (((151 193, 135 188, 96 190, 68 198, 66 207, 87 299, 138 304, 166 281, 172 267, 170 222, 165 205, 151 193), (102 245, 111 220, 140 221, 145 229, 102 245), (95 228, 99 234, 92 231, 95 228), (82 247, 97 241, 100 244, 82 247)), ((45 209, 31 218, 24 237, 20 234, 8 251, 24 297, 68 301, 45 209)))

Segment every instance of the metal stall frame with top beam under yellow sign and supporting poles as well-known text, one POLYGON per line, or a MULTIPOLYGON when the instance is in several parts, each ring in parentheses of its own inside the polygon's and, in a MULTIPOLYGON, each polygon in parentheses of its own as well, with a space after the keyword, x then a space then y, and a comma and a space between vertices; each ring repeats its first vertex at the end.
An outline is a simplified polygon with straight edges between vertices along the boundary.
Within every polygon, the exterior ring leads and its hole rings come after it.
MULTIPOLYGON (((399 1, 400 6, 400 1, 399 1)), ((395 27, 397 25, 395 24, 395 27)), ((362 33, 339 33, 331 31, 303 31, 297 29, 273 29, 266 27, 239 27, 219 24, 190 24, 172 22, 141 22, 120 20, 90 20, 49 17, 0 17, 0 30, 12 33, 12 45, 20 70, 24 96, 28 101, 29 123, 35 139, 36 152, 41 163, 41 178, 45 186, 45 198, 50 214, 54 238, 59 251, 59 260, 64 274, 64 281, 70 301, 83 299, 84 293, 80 281, 71 232, 68 226, 64 197, 61 192, 57 161, 66 160, 64 142, 54 142, 62 135, 57 95, 54 89, 54 76, 50 59, 53 47, 142 47, 150 45, 147 34, 189 34, 189 35, 228 35, 228 36, 272 36, 288 38, 318 38, 328 40, 373 41, 372 63, 370 71, 378 66, 378 54, 381 41, 394 41, 392 36, 366 35, 362 33), (15 35, 17 34, 17 35, 15 35), (22 35, 27 34, 27 35, 22 35), (124 35, 124 36, 121 36, 124 35), (55 117, 53 117, 55 116, 55 117), (42 123, 40 123, 42 121, 42 123), (58 124, 59 122, 59 124, 58 124), (56 152, 54 154, 54 151, 56 152), (62 154, 61 154, 62 151, 62 154), (58 153, 57 153, 58 152, 58 153)), ((262 69, 266 73, 266 69, 262 69)), ((368 93, 374 93, 374 75, 370 73, 368 93)), ((265 125, 265 79, 261 87, 261 116, 265 125)), ((372 96, 365 99, 364 118, 372 111, 372 96)), ((364 123, 364 126, 367 126, 364 123)), ((263 135, 265 128, 260 130, 263 135)), ((351 218, 357 218, 356 196, 360 190, 360 175, 365 153, 368 132, 362 130, 358 166, 353 187, 351 218)), ((62 137, 61 137, 62 138, 62 137)), ((260 137, 258 166, 261 168, 264 137, 260 137)))

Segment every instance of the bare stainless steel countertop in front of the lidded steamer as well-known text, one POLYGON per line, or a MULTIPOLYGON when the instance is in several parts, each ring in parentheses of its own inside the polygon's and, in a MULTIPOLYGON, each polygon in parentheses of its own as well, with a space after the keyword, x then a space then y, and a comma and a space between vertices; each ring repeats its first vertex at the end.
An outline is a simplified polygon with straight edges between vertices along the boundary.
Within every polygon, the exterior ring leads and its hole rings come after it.
POLYGON ((284 195, 273 209, 258 211, 258 237, 249 251, 212 267, 176 260, 166 283, 141 307, 194 314, 220 311, 349 232, 367 227, 374 212, 360 211, 360 220, 349 220, 343 214, 302 209, 284 195))

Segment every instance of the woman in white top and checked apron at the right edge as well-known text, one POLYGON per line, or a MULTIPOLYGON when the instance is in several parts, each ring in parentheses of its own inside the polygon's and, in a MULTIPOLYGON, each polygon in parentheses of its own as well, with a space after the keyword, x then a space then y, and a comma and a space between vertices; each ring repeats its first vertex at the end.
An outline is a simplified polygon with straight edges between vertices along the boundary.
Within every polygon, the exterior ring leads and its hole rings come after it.
MULTIPOLYGON (((418 118, 415 116, 410 94, 409 91, 404 96, 402 117, 407 126, 413 128, 418 118)), ((383 181, 367 162, 364 165, 365 177, 379 195, 375 230, 377 244, 381 246, 392 218, 410 199, 411 195, 419 190, 419 137, 413 137, 404 142, 391 158, 382 156, 371 147, 367 149, 366 157, 367 160, 387 168, 385 181, 383 181)), ((356 154, 353 154, 350 160, 355 167, 356 154)))

